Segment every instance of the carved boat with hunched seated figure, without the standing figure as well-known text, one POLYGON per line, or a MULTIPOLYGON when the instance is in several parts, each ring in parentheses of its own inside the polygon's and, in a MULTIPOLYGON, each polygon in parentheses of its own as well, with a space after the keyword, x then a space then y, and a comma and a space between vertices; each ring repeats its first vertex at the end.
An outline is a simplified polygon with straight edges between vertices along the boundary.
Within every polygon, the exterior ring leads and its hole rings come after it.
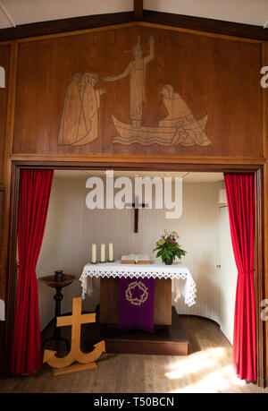
POLYGON ((208 115, 197 120, 180 94, 174 92, 173 87, 169 84, 164 85, 160 93, 163 95, 163 105, 168 116, 159 121, 157 126, 141 126, 139 128, 122 123, 113 116, 113 124, 119 134, 113 139, 113 143, 130 145, 138 142, 144 146, 151 144, 206 146, 211 144, 205 135, 208 115))

